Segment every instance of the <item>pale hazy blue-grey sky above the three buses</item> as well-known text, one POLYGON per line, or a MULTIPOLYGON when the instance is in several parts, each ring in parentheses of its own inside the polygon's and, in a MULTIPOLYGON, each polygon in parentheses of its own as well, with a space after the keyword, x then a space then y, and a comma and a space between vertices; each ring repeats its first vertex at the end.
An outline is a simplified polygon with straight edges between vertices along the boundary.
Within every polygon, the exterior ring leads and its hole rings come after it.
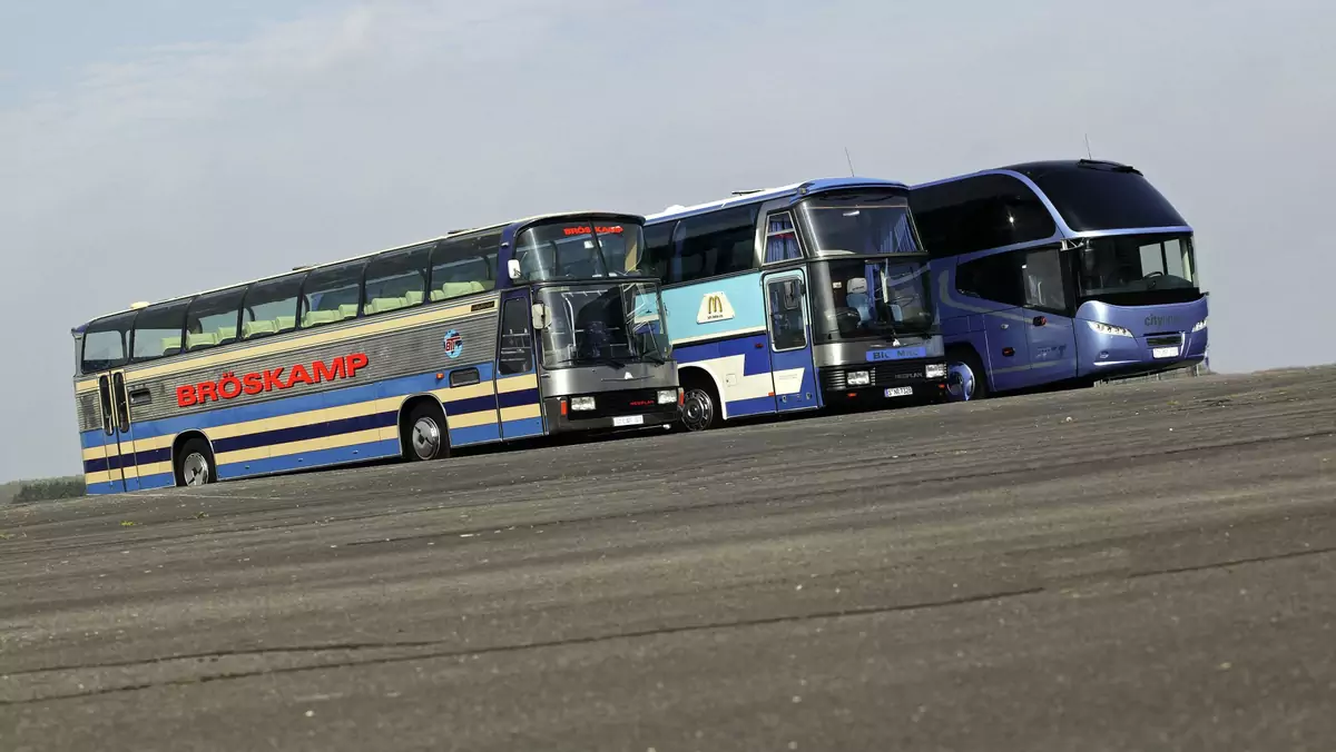
POLYGON ((1212 367, 1336 362, 1319 0, 0 0, 0 481, 79 472, 69 327, 544 211, 1130 163, 1212 367))

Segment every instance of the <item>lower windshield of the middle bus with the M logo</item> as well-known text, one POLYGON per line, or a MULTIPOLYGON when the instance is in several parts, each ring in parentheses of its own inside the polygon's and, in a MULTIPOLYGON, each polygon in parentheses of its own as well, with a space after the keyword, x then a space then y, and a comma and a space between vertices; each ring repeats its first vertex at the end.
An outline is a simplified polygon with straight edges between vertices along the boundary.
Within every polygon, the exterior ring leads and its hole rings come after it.
POLYGON ((923 334, 933 327, 927 262, 844 259, 812 267, 818 337, 826 341, 923 334))

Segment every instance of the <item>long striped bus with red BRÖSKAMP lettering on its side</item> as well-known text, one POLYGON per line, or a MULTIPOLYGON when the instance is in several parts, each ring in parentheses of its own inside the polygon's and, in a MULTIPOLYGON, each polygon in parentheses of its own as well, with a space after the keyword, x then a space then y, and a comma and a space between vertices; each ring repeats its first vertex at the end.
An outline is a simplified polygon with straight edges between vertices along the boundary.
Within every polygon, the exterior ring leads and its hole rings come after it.
POLYGON ((72 330, 90 494, 676 422, 644 218, 550 214, 72 330), (619 271, 620 270, 620 271, 619 271))

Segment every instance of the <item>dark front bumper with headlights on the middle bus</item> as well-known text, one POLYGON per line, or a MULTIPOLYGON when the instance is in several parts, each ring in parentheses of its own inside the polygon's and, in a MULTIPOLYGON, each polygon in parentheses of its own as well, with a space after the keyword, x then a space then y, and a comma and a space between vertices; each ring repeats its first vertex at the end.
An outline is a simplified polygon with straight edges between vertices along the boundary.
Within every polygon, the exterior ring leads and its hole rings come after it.
POLYGON ((946 359, 851 363, 820 369, 822 401, 830 406, 876 406, 946 399, 946 359))

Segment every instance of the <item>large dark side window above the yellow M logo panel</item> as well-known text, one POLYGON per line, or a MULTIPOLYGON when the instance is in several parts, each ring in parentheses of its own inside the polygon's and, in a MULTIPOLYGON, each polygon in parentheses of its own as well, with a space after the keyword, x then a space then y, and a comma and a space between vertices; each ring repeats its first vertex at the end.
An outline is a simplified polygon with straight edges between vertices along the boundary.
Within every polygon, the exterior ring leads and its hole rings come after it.
POLYGON ((747 271, 756 266, 756 204, 689 216, 673 230, 669 282, 747 271))

